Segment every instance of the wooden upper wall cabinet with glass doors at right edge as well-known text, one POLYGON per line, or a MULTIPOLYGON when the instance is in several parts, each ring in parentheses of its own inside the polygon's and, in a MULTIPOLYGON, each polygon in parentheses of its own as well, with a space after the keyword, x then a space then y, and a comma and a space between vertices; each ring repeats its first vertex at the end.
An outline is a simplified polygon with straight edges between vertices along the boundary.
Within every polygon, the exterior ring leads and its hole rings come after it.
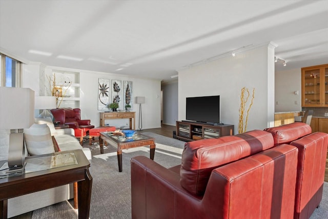
POLYGON ((301 71, 302 107, 328 107, 328 64, 301 71))

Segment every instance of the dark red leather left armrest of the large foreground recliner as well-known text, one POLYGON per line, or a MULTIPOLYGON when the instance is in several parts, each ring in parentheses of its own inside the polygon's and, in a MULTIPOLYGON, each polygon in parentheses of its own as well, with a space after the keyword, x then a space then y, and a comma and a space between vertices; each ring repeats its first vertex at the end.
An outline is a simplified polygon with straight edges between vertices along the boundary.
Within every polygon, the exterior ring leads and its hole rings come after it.
POLYGON ((176 193, 199 202, 199 198, 181 187, 179 174, 146 156, 131 159, 132 218, 174 218, 176 193))

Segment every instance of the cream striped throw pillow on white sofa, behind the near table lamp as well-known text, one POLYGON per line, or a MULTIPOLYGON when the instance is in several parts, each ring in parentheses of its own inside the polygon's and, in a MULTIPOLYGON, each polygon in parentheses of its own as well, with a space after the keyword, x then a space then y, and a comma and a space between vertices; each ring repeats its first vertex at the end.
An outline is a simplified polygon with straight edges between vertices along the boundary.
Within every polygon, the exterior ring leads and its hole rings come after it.
POLYGON ((40 155, 55 152, 50 129, 47 124, 33 124, 24 129, 26 148, 30 155, 40 155))

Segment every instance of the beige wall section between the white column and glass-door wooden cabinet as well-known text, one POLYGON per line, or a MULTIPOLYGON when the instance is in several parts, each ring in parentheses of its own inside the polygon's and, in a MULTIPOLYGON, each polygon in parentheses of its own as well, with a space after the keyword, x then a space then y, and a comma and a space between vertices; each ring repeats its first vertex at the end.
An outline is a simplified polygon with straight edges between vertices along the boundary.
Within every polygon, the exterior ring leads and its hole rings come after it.
POLYGON ((301 69, 277 71, 275 84, 277 85, 275 89, 275 111, 301 111, 301 69), (295 95, 295 91, 298 91, 298 95, 295 95))

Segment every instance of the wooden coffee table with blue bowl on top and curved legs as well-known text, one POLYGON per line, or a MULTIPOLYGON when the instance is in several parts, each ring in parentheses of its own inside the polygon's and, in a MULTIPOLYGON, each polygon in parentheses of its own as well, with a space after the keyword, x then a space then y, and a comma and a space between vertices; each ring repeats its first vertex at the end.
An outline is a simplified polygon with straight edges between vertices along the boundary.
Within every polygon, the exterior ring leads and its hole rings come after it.
POLYGON ((100 132, 100 153, 104 153, 104 141, 117 149, 118 171, 122 172, 122 149, 136 148, 149 145, 150 158, 154 160, 155 138, 136 133, 132 138, 114 135, 113 132, 100 132))

